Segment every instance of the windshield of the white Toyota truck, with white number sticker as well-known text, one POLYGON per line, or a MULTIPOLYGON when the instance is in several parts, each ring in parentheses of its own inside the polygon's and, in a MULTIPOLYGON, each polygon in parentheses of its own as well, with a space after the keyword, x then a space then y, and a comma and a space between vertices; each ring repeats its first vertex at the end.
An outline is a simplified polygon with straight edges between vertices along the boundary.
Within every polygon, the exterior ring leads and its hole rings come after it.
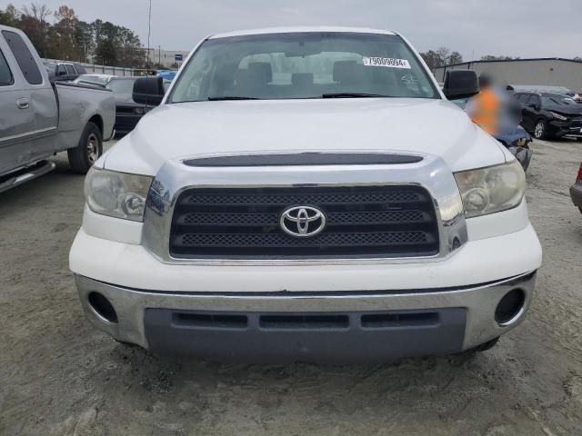
POLYGON ((297 33, 206 41, 169 101, 334 96, 439 98, 399 36, 297 33))

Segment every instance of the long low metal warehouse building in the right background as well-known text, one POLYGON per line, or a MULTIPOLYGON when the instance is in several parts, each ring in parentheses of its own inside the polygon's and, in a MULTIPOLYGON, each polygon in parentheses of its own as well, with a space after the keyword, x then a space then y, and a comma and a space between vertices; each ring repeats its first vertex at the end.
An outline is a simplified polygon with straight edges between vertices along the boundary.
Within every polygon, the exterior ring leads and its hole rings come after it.
POLYGON ((504 84, 565 86, 574 92, 582 92, 582 61, 559 57, 474 61, 440 66, 435 70, 435 76, 438 82, 444 82, 447 70, 463 68, 477 74, 489 74, 504 84))

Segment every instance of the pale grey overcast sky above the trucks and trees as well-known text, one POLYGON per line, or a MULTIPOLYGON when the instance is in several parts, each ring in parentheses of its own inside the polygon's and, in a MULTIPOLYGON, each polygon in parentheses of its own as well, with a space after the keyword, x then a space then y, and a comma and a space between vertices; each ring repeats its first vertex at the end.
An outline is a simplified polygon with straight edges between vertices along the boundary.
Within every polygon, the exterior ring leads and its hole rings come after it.
MULTIPOLYGON (((0 8, 9 3, 0 0, 0 8)), ((16 7, 28 3, 14 0, 16 7)), ((124 25, 147 45, 148 0, 35 0, 80 19, 124 25)), ((274 25, 355 25, 401 32, 419 51, 582 56, 582 0, 152 0, 151 46, 190 50, 206 35, 274 25)))

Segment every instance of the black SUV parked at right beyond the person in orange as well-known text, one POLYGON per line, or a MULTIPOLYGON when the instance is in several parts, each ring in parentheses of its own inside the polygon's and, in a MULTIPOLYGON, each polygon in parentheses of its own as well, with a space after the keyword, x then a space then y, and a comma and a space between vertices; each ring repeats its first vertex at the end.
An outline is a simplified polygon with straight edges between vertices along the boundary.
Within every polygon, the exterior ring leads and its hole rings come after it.
POLYGON ((576 137, 582 141, 582 105, 564 94, 516 93, 521 125, 537 139, 576 137))

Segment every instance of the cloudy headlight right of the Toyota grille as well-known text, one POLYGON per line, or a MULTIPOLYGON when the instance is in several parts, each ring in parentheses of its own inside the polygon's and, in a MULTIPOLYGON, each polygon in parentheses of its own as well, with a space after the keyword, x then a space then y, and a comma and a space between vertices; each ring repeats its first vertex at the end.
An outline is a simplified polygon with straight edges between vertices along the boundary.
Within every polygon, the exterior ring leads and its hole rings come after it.
POLYGON ((462 171, 455 178, 467 218, 516 207, 526 192, 526 174, 517 161, 462 171))

